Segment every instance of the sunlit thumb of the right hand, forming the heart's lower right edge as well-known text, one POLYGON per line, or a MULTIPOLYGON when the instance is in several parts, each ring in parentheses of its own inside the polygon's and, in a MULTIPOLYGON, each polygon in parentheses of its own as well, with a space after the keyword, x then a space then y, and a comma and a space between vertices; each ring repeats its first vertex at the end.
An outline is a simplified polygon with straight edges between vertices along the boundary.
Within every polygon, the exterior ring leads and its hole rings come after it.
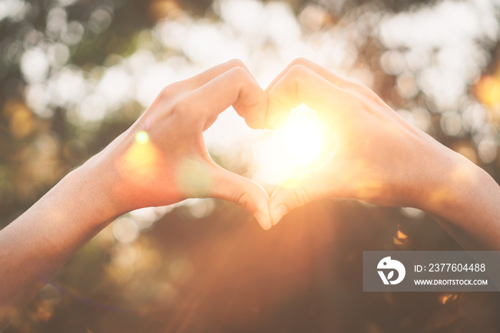
POLYGON ((330 165, 325 164, 323 167, 299 174, 277 187, 269 202, 272 224, 277 224, 285 214, 308 202, 334 197, 334 192, 337 192, 339 187, 335 184, 334 189, 334 184, 331 184, 333 174, 330 165))

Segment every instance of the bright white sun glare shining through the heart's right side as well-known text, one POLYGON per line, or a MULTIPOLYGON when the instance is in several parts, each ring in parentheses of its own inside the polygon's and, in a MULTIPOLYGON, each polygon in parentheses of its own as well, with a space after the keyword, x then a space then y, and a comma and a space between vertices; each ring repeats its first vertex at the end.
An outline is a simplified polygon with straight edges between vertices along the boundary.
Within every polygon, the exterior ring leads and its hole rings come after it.
POLYGON ((286 124, 256 146, 254 178, 284 184, 296 174, 321 166, 334 154, 334 133, 316 112, 301 104, 291 110, 286 124))

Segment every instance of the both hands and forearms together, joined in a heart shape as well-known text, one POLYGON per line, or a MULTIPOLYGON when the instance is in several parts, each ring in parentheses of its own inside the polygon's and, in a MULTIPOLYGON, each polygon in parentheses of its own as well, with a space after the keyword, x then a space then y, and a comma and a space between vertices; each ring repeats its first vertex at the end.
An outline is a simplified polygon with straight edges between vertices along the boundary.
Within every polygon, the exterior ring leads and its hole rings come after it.
POLYGON ((241 61, 167 86, 127 131, 0 232, 0 330, 86 242, 119 215, 188 197, 240 204, 269 229, 324 197, 416 207, 468 249, 500 249, 500 187, 486 172, 406 123, 370 89, 306 59, 263 91, 241 61), (228 106, 253 129, 277 128, 301 103, 336 133, 323 166, 264 189, 219 167, 202 133, 228 106))

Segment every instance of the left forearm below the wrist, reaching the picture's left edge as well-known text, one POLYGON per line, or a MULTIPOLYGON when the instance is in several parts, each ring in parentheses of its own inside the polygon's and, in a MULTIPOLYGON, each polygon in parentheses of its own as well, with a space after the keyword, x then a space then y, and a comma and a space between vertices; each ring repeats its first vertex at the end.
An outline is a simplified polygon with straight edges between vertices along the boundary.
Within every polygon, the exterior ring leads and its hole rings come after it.
MULTIPOLYGON (((0 232, 0 331, 119 213, 89 160, 0 232)), ((101 172, 102 174, 102 172, 101 172)), ((111 180, 111 179, 110 179, 111 180)))

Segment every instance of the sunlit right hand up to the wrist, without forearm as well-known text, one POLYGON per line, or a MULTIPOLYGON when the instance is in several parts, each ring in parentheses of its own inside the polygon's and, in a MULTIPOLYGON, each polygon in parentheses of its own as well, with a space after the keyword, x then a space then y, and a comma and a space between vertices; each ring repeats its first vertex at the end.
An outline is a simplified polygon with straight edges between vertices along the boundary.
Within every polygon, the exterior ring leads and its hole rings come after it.
POLYGON ((440 170, 453 169, 461 158, 408 124, 370 89, 306 59, 293 61, 266 92, 267 127, 284 124, 289 110, 304 102, 336 134, 332 159, 300 174, 294 187, 274 191, 273 224, 292 209, 324 197, 429 208, 429 202, 440 199, 440 170))

